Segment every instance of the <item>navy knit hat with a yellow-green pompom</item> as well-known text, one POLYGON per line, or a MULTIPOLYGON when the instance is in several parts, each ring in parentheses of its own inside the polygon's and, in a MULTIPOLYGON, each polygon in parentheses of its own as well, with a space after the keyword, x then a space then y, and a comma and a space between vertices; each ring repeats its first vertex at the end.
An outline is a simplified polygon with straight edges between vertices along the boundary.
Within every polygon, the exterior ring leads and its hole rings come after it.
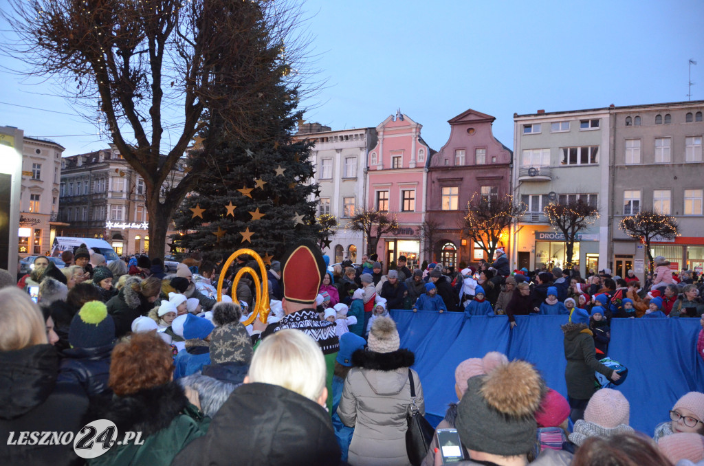
POLYGON ((73 316, 68 343, 74 348, 106 346, 115 339, 115 322, 101 301, 88 301, 73 316))

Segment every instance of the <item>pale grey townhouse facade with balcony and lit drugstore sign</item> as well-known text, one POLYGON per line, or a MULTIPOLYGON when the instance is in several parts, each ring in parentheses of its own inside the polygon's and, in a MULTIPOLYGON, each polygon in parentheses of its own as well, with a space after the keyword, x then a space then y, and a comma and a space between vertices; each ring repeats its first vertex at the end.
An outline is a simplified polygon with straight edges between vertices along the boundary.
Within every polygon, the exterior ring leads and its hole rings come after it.
POLYGON ((565 238, 543 209, 573 199, 600 212, 574 244, 574 267, 583 276, 608 267, 609 129, 610 108, 514 114, 512 190, 527 208, 511 232, 514 267, 564 267, 565 238))

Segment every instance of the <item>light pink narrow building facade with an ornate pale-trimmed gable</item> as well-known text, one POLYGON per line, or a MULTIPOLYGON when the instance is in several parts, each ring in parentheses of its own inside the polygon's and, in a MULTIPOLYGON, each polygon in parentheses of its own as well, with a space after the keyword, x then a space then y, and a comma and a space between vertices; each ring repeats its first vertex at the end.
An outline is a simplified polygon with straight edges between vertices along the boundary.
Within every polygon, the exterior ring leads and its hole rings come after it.
POLYGON ((369 151, 367 208, 398 220, 398 229, 377 244, 384 269, 401 255, 408 258, 408 267, 423 260, 418 229, 425 220, 425 165, 435 151, 420 137, 421 128, 400 111, 389 115, 377 126, 377 145, 369 151))

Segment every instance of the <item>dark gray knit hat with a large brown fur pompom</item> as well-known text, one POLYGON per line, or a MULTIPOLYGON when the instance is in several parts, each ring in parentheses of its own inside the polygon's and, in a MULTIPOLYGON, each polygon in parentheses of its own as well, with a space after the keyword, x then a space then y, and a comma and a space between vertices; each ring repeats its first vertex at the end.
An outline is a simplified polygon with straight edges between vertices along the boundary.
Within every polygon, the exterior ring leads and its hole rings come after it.
POLYGON ((463 445, 494 455, 524 455, 535 444, 534 415, 545 391, 535 368, 521 360, 470 378, 455 420, 463 445))

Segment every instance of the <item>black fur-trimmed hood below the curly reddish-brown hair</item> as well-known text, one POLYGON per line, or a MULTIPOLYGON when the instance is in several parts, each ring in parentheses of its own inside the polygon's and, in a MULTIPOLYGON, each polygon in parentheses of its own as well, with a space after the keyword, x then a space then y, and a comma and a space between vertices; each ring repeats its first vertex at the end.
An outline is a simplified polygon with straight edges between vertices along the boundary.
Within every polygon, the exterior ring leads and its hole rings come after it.
POLYGON ((87 413, 87 422, 107 419, 118 432, 142 432, 146 438, 169 427, 189 401, 177 382, 140 390, 128 396, 114 396, 108 403, 96 400, 87 413))

